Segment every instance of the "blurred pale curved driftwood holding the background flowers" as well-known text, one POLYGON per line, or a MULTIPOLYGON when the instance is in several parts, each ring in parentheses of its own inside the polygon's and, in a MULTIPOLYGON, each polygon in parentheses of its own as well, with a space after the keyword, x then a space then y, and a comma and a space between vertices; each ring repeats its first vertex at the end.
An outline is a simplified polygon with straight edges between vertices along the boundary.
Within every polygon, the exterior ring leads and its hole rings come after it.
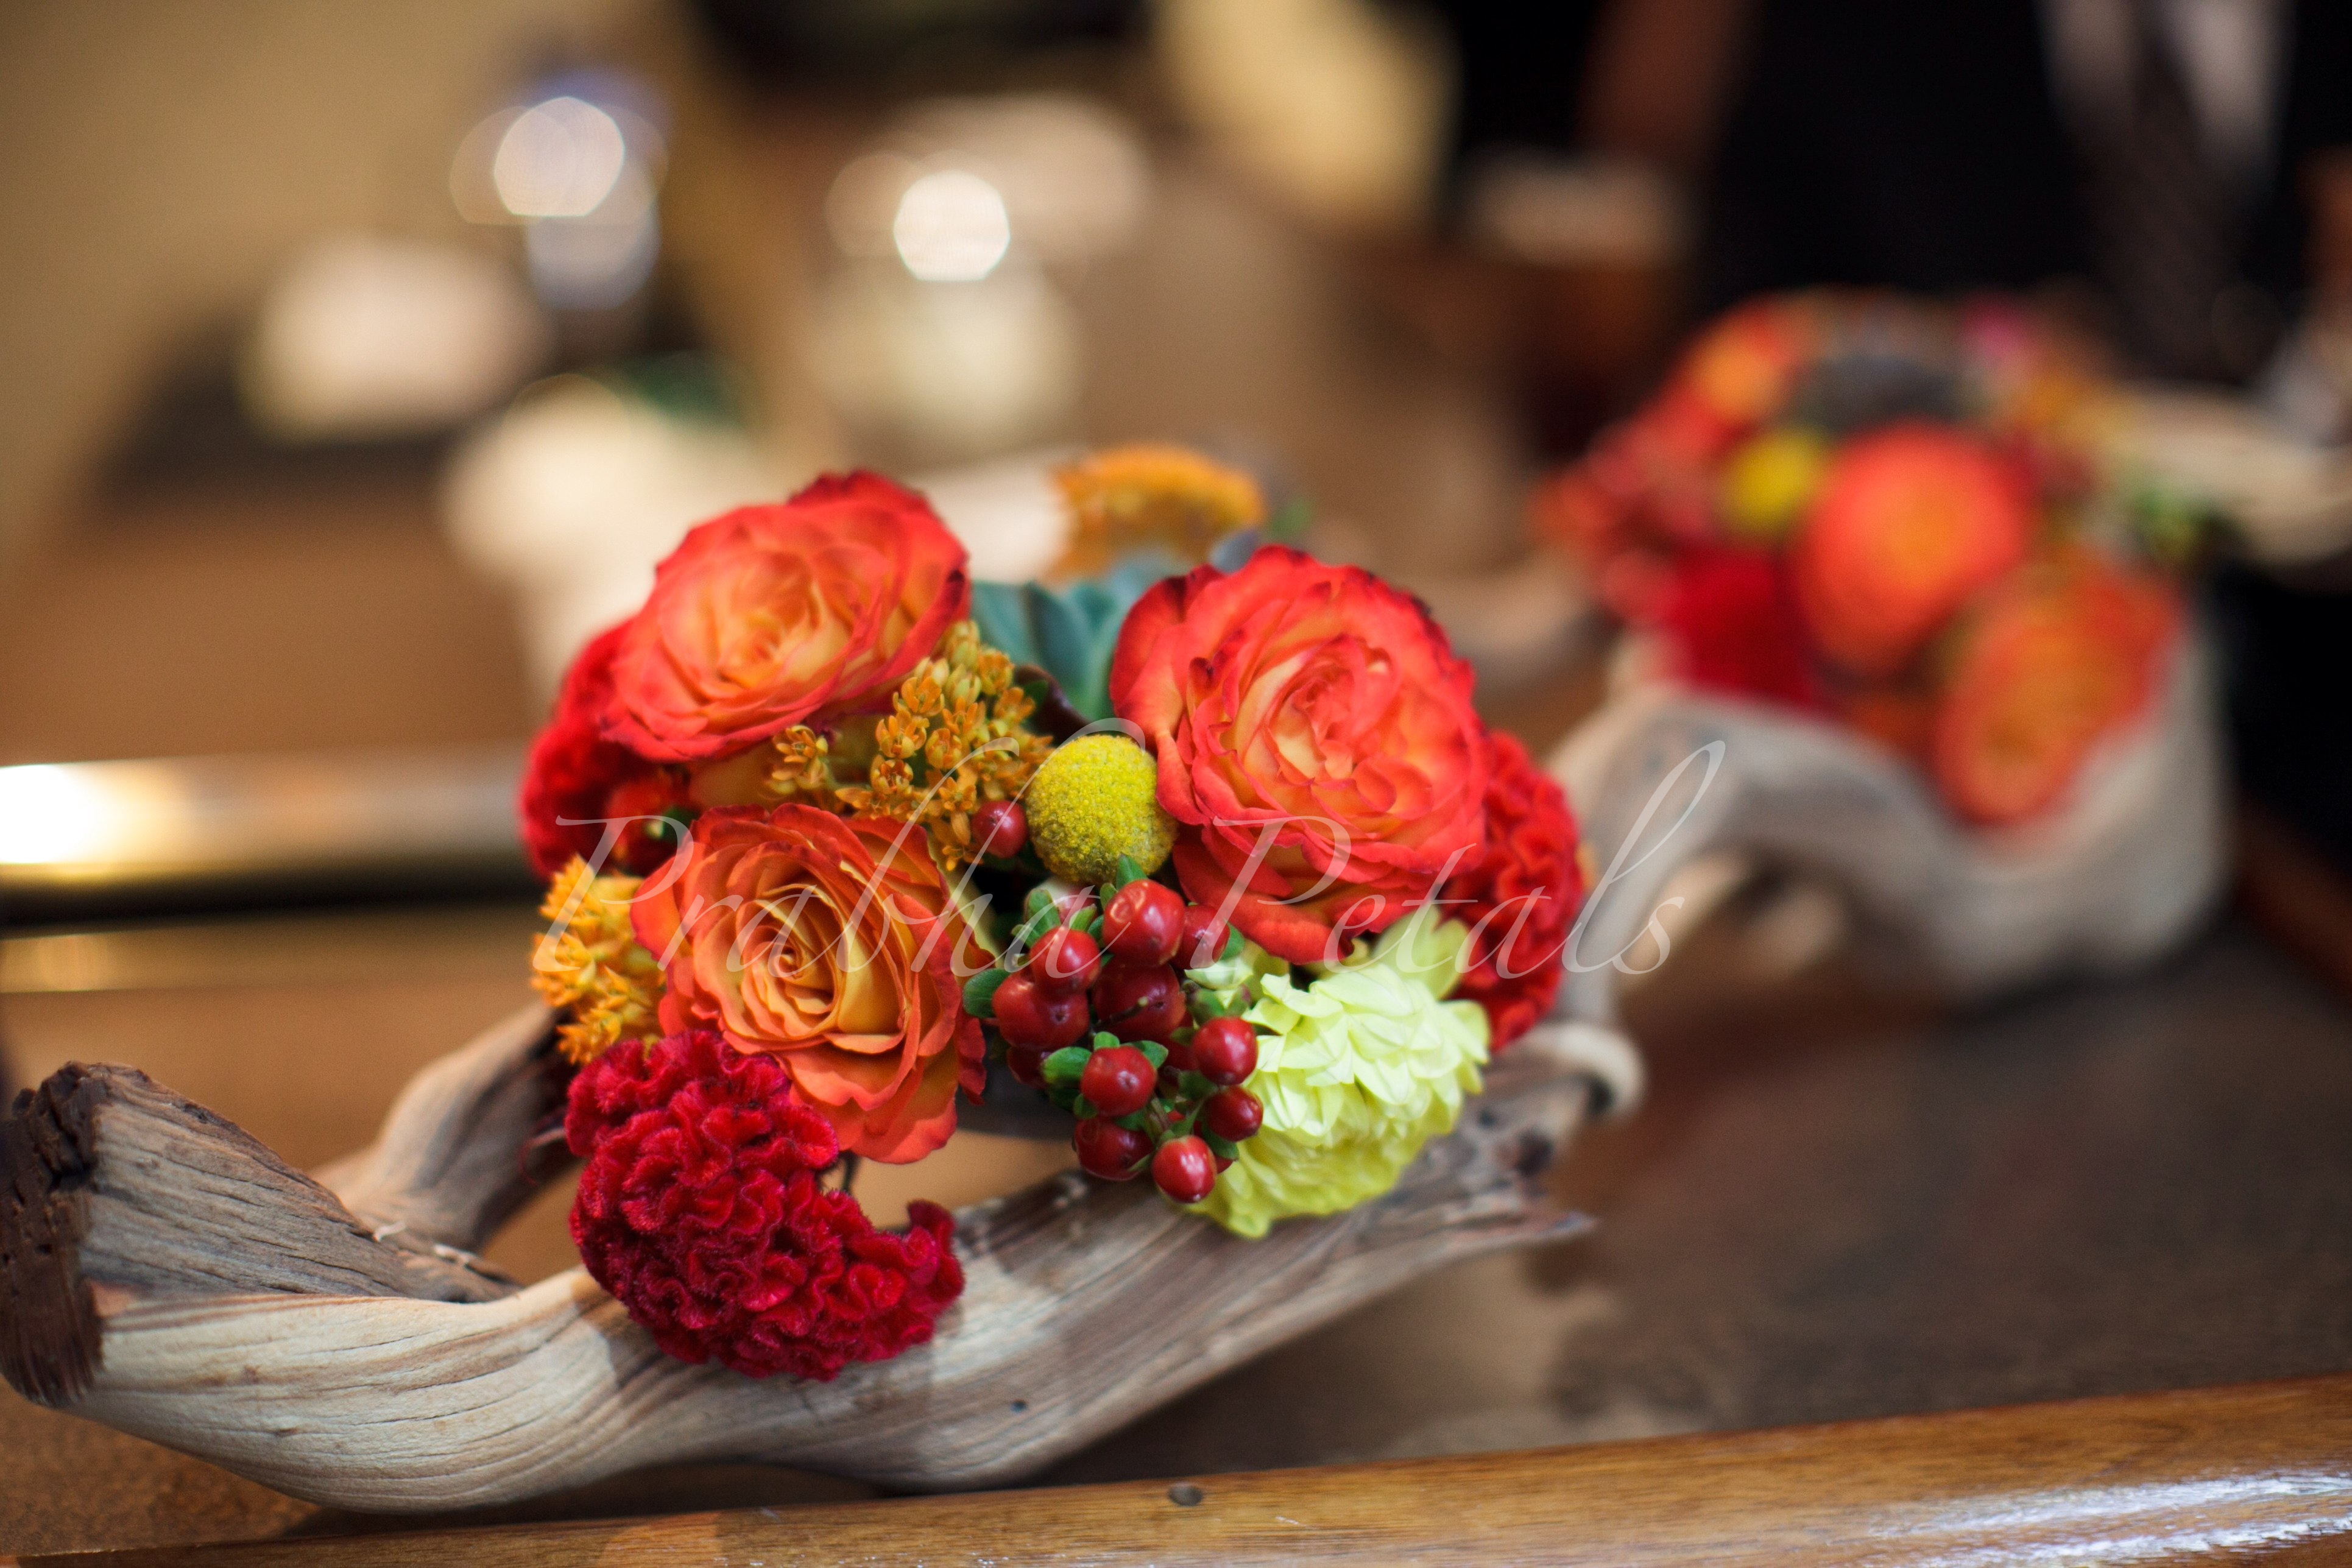
POLYGON ((1955 820, 1912 762, 1837 724, 1672 684, 1611 696, 1550 766, 1616 872, 1581 914, 1562 992, 1564 1016, 1595 1023, 1618 1016, 1611 959, 1658 959, 1644 931, 1672 926, 1675 872, 1708 853, 1820 877, 1879 952, 1950 997, 2147 964, 2213 910, 2230 865, 2220 701, 2197 635, 2150 710, 2016 827, 1955 820))

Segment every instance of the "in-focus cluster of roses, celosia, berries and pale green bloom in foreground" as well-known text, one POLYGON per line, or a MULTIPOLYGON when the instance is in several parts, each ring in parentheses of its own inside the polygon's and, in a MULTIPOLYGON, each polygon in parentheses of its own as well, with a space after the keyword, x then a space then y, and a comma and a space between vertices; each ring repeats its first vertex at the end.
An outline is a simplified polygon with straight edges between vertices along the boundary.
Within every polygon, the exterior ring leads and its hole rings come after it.
POLYGON ((851 1175, 960 1103, 1261 1237, 1385 1192, 1552 1001, 1576 818, 1428 611, 1190 451, 1058 480, 1049 583, 863 473, 696 527, 532 748, 572 1237, 675 1356, 924 1342, 953 1220, 851 1175))

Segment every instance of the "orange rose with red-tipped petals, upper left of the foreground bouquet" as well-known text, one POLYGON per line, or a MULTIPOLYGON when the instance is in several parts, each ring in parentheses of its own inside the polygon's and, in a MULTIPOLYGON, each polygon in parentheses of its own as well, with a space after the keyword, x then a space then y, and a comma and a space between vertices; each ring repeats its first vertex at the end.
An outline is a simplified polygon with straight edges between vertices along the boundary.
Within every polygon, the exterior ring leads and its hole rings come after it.
POLYGON ((621 632, 604 733, 656 762, 882 708, 971 607, 964 545, 870 473, 687 534, 621 632))

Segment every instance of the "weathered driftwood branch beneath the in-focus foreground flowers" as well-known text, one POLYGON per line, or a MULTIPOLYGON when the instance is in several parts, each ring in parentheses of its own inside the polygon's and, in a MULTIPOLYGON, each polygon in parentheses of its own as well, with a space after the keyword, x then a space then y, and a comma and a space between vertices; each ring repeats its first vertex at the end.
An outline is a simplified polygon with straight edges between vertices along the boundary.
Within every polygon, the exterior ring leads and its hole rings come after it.
POLYGON ((428 1067, 383 1138, 327 1173, 369 1218, 136 1072, 59 1074, 5 1133, 0 1371, 365 1509, 722 1458, 1011 1481, 1381 1291, 1571 1234, 1538 1173, 1625 1093, 1630 1060, 1595 1030, 1538 1030, 1395 1192, 1265 1241, 1080 1175, 967 1208, 967 1288, 938 1338, 814 1385, 673 1361, 579 1269, 503 1293, 435 1251, 477 1241, 510 1199, 553 1081, 541 1025, 517 1016, 428 1067))

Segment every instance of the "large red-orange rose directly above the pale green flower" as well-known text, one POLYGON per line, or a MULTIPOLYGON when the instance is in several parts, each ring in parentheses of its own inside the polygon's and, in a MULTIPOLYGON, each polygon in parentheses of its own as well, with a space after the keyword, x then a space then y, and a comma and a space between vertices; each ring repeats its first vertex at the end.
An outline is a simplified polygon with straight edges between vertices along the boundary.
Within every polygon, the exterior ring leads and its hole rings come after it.
POLYGON ((1265 548, 1152 588, 1120 628, 1110 703, 1185 825, 1176 875, 1291 961, 1402 919, 1479 849, 1486 729, 1470 665, 1418 599, 1265 548))

